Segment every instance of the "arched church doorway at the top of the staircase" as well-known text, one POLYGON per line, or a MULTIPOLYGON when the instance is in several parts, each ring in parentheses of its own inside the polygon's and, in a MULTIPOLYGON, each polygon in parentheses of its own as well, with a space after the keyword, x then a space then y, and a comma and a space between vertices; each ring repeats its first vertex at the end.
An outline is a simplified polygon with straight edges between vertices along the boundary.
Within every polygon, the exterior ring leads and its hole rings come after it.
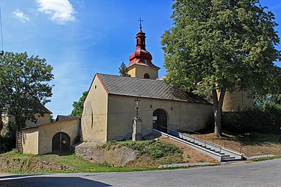
POLYGON ((153 129, 167 132, 167 114, 162 109, 153 112, 153 129))

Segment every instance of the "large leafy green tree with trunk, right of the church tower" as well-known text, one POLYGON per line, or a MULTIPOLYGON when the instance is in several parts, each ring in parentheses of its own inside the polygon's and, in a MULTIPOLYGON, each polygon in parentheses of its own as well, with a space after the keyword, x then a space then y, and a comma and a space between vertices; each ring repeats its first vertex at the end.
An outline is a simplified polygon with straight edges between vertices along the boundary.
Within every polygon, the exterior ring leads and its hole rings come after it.
POLYGON ((275 80, 278 24, 258 0, 178 0, 173 9, 174 26, 162 35, 167 81, 212 93, 214 134, 221 136, 225 91, 266 93, 275 80))

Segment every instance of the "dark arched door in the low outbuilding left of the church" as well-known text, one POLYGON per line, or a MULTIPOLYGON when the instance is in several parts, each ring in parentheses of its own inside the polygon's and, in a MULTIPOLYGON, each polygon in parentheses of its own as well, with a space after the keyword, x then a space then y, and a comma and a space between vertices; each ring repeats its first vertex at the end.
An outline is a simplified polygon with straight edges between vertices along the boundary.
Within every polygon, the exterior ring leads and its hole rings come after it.
POLYGON ((58 132, 53 135, 52 152, 69 152, 70 137, 65 132, 58 132))

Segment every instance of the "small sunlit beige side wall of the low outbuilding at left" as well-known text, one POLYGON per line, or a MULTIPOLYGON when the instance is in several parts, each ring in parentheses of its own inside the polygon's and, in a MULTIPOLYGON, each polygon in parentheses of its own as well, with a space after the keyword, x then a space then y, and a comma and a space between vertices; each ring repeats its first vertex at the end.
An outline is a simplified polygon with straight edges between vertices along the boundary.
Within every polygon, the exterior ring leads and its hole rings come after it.
POLYGON ((27 154, 38 154, 38 127, 22 130, 22 148, 27 154))

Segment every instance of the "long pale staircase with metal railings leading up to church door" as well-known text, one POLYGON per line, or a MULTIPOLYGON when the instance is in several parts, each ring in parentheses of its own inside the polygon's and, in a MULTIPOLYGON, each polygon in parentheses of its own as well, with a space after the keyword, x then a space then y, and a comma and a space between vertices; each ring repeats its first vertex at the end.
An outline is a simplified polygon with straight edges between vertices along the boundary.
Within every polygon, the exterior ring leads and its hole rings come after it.
POLYGON ((245 159, 244 155, 239 152, 222 148, 221 146, 211 143, 209 141, 204 141, 202 139, 198 139, 194 136, 183 134, 175 130, 168 130, 168 132, 165 133, 153 129, 153 132, 156 134, 161 134, 163 136, 168 136, 170 139, 173 139, 180 143, 184 143, 185 145, 188 145, 191 148, 203 152, 204 154, 207 154, 210 157, 213 157, 214 159, 221 162, 242 161, 245 159))

